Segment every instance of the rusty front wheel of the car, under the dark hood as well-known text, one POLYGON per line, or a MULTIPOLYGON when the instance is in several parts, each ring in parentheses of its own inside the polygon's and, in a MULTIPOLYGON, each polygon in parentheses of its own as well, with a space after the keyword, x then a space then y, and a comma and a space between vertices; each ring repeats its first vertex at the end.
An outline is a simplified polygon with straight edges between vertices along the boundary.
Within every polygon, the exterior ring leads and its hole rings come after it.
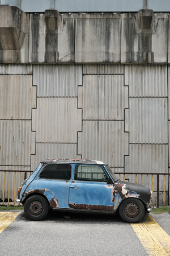
POLYGON ((145 207, 139 199, 125 199, 119 207, 119 214, 125 222, 137 223, 144 217, 145 207))

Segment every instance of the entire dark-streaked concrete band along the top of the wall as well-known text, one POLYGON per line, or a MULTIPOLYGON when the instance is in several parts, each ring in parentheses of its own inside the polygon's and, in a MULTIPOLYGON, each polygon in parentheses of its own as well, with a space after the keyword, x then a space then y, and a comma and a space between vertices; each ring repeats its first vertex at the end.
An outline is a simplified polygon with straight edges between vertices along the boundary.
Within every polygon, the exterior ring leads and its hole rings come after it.
POLYGON ((0 6, 0 14, 0 63, 168 61, 165 13, 25 14, 18 7, 0 6))

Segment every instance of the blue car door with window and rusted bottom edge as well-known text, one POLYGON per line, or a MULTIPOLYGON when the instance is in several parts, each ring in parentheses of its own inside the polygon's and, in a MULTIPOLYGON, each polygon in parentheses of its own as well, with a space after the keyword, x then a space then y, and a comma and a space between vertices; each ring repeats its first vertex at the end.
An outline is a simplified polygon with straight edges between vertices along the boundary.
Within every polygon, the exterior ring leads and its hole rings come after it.
POLYGON ((77 164, 70 185, 69 207, 112 211, 114 187, 113 184, 107 184, 107 180, 103 167, 77 164))

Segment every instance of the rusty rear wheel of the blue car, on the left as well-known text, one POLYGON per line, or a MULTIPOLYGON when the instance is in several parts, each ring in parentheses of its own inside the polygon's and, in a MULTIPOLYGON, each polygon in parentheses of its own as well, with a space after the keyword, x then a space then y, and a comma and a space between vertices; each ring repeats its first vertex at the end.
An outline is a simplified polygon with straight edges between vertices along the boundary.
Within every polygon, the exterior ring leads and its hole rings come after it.
POLYGON ((48 210, 48 202, 42 196, 31 196, 24 204, 24 213, 29 220, 42 220, 48 210))

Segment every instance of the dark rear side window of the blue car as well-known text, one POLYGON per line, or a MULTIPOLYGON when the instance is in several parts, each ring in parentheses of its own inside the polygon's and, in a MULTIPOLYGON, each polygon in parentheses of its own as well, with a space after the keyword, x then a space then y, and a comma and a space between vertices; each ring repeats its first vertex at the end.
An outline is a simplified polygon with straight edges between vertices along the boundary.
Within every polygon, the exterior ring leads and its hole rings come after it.
POLYGON ((70 180, 71 165, 55 163, 46 164, 39 177, 40 179, 70 180))

